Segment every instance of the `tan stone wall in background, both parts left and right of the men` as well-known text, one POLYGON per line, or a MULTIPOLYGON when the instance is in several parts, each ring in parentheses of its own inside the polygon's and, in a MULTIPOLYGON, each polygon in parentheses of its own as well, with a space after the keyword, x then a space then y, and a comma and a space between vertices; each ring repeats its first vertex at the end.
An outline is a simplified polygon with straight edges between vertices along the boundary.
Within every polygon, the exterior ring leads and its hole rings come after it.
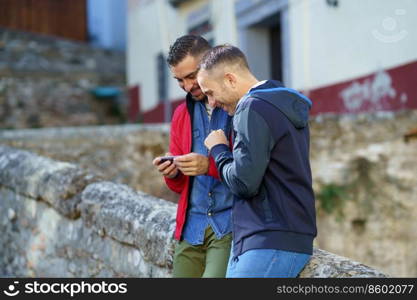
MULTIPOLYGON (((391 276, 417 276, 417 111, 311 121, 315 246, 391 276), (395 247, 393 246, 395 245, 395 247)), ((0 131, 0 143, 79 164, 104 179, 176 201, 152 166, 168 125, 0 131)))

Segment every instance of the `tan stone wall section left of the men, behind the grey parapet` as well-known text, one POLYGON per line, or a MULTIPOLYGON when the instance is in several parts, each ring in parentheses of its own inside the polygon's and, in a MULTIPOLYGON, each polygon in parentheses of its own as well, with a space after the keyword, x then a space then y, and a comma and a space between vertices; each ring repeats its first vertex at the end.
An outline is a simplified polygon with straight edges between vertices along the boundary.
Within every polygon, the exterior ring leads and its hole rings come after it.
POLYGON ((76 163, 106 180, 176 202, 152 160, 168 149, 169 126, 119 125, 0 131, 0 143, 76 163))

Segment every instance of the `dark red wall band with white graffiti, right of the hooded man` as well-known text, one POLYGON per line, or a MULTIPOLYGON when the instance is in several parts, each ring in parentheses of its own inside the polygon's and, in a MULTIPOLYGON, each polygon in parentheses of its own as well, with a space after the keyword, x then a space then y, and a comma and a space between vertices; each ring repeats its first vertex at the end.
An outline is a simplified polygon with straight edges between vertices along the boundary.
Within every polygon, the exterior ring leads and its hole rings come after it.
POLYGON ((312 115, 417 109, 417 61, 305 94, 312 115))

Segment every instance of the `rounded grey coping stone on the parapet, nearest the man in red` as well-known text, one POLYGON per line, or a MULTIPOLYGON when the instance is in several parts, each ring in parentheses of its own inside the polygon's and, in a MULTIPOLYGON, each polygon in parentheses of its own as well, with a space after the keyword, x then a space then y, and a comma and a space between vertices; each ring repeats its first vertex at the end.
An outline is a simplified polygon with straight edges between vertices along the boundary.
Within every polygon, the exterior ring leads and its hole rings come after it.
POLYGON ((102 235, 136 246, 144 259, 159 266, 172 265, 173 203, 125 185, 99 182, 82 193, 81 211, 85 224, 102 235))

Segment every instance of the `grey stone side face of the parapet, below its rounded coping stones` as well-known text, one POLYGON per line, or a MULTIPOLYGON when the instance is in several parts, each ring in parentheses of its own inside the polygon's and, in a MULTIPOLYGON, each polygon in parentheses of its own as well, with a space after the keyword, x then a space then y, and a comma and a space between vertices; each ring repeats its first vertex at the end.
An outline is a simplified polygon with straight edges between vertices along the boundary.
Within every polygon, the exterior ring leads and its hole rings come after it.
POLYGON ((140 249, 100 236, 81 218, 68 219, 43 202, 0 189, 0 276, 170 277, 171 270, 145 260, 140 249))

